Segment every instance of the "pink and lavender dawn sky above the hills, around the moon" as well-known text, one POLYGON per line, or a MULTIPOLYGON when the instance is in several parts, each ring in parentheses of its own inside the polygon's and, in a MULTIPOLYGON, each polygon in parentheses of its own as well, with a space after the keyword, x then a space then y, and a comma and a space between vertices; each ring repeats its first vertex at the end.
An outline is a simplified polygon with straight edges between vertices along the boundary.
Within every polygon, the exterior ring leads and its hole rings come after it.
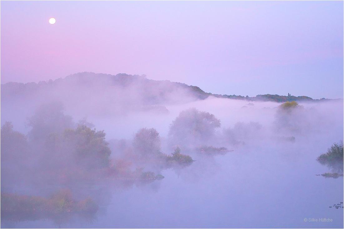
POLYGON ((87 71, 145 74, 216 94, 343 98, 343 1, 0 6, 2 84, 87 71))

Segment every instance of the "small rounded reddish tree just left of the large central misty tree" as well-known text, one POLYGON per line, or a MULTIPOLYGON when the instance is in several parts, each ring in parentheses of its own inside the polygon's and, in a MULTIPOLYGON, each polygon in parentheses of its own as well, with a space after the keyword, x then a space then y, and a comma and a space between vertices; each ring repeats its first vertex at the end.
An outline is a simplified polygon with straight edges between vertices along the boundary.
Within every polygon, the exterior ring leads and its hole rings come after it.
POLYGON ((135 134, 133 146, 140 156, 150 157, 161 153, 161 139, 159 132, 150 128, 141 128, 135 134))

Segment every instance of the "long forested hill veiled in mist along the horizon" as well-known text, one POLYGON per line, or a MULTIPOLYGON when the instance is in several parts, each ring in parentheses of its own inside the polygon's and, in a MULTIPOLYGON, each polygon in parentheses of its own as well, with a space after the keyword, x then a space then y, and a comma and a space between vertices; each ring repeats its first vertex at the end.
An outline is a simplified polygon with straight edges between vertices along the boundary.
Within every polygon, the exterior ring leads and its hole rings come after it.
MULTIPOLYGON (((322 98, 320 100, 313 100, 308 96, 293 96, 289 95, 257 95, 255 97, 241 96, 241 95, 221 95, 206 93, 196 86, 187 85, 185 83, 171 82, 169 80, 157 81, 147 79, 145 75, 127 75, 119 73, 116 76, 81 72, 65 78, 56 80, 40 81, 39 83, 16 83, 8 82, 1 84, 1 97, 6 98, 20 98, 33 96, 40 93, 55 94, 58 92, 65 92, 62 96, 81 96, 82 94, 94 95, 113 95, 108 89, 116 90, 116 97, 123 95, 129 96, 132 99, 140 100, 145 105, 170 104, 186 102, 197 99, 206 99, 208 96, 215 96, 218 98, 239 99, 248 101, 324 101, 329 100, 322 98), (72 92, 72 93, 71 93, 72 92), (73 92, 78 95, 73 95, 73 92), (104 94, 105 93, 105 94, 104 94), (189 99, 186 99, 186 97, 189 99)), ((49 95, 51 96, 51 95, 49 95)))

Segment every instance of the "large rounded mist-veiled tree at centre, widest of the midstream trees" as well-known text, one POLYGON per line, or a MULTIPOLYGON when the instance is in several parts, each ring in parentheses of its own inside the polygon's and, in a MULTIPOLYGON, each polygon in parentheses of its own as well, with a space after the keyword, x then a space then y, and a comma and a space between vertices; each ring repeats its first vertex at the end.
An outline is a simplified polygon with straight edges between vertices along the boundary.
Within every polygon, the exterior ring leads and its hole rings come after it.
POLYGON ((220 126, 221 121, 215 115, 190 108, 179 113, 168 135, 175 144, 199 144, 209 141, 220 126))

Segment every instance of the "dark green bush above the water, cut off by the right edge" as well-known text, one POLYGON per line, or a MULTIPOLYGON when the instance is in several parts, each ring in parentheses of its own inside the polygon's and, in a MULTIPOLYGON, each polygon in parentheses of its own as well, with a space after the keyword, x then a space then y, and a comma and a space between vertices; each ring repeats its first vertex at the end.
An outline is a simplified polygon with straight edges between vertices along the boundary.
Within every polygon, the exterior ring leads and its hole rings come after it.
POLYGON ((322 153, 316 160, 331 169, 343 171, 343 153, 343 141, 341 140, 338 143, 333 143, 327 152, 322 153))

